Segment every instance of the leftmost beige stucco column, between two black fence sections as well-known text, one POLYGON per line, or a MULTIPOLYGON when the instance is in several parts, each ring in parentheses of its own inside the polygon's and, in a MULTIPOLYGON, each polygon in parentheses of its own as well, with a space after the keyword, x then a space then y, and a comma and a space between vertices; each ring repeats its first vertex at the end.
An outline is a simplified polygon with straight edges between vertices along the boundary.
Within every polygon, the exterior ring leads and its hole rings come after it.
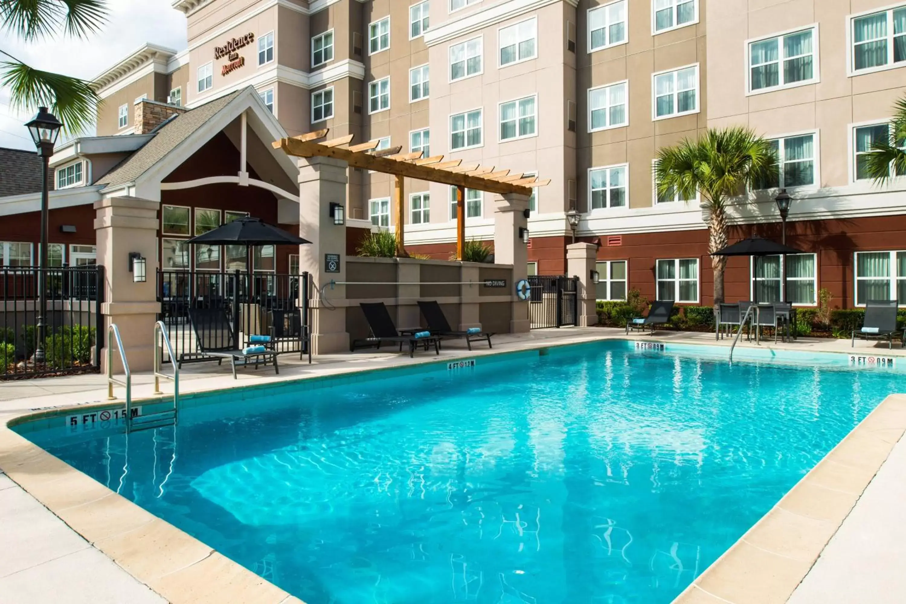
MULTIPOLYGON (((94 231, 97 237, 98 264, 104 267, 104 340, 101 371, 107 370, 107 329, 116 323, 120 329, 126 360, 134 371, 154 369, 154 322, 158 320, 156 267, 158 257, 157 201, 135 197, 109 197, 94 203, 94 231), (145 283, 135 283, 129 270, 129 254, 138 252, 146 259, 145 283)), ((113 354, 113 370, 122 371, 119 353, 113 354)))

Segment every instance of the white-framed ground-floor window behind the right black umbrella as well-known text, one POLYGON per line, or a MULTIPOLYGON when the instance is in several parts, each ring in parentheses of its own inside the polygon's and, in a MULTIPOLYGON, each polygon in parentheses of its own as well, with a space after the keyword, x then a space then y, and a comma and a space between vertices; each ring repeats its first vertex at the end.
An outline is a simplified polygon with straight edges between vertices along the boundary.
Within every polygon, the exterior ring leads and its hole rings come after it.
POLYGON ((749 295, 757 296, 751 299, 758 302, 783 302, 786 298, 786 302, 793 302, 796 306, 814 306, 818 292, 817 256, 787 255, 786 279, 782 264, 782 256, 779 255, 750 259, 749 295))

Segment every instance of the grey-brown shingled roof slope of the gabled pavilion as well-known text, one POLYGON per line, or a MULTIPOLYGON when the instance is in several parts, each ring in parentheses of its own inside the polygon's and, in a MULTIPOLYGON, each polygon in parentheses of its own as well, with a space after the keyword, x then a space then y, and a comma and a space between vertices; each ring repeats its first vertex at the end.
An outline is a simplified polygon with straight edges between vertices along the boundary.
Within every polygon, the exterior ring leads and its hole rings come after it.
POLYGON ((95 184, 119 187, 134 182, 242 92, 242 90, 232 92, 165 122, 147 145, 123 159, 119 166, 113 168, 95 184))

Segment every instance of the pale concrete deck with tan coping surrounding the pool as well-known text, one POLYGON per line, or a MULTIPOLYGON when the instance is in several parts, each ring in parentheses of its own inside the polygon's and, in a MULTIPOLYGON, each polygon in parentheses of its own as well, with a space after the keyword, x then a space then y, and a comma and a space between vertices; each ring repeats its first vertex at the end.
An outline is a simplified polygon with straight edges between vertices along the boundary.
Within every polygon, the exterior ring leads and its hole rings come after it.
MULTIPOLYGON (((490 351, 469 352, 452 342, 442 351, 440 360, 625 338, 622 330, 602 328, 533 331, 498 336, 495 349, 490 351)), ((651 336, 631 338, 651 340, 651 336)), ((716 342, 714 335, 707 333, 662 332, 654 340, 729 345, 728 340, 716 342)), ((737 350, 754 346, 741 341, 737 350)), ((776 346, 766 342, 761 348, 853 351, 848 340, 803 339, 776 346)), ((880 344, 857 343, 855 350, 906 357, 906 350, 888 350, 880 344)), ((323 357, 309 366, 284 355, 279 376, 270 368, 241 369, 236 381, 228 367, 189 365, 180 373, 180 392, 434 360, 438 358, 433 353, 410 360, 406 355, 384 351, 360 351, 323 357)), ((151 377, 139 374, 133 378, 134 398, 150 397, 151 377)), ((162 387, 165 392, 171 391, 169 384, 162 387)), ((300 600, 113 494, 6 427, 14 417, 36 411, 53 413, 61 407, 107 402, 106 380, 100 375, 0 384, 0 604, 298 603, 300 600)), ((906 553, 906 520, 899 513, 906 494, 902 486, 906 445, 899 442, 904 429, 906 397, 888 398, 677 601, 906 601, 906 580, 897 565, 906 553)))

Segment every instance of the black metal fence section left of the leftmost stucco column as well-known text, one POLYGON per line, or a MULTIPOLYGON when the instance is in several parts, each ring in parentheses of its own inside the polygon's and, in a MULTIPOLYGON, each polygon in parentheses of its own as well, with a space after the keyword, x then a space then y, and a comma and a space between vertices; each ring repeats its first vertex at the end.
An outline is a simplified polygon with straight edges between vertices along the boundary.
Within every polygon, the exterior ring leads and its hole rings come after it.
POLYGON ((0 379, 100 370, 104 338, 102 266, 3 267, 0 279, 0 379), (43 339, 38 326, 42 315, 43 339))

